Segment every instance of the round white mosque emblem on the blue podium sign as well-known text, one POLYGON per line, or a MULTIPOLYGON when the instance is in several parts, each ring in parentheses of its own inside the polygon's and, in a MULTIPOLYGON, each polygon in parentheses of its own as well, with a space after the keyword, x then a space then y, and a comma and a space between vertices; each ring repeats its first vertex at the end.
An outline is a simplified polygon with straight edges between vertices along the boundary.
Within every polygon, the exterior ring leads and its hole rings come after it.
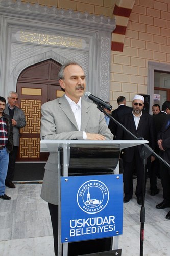
POLYGON ((77 203, 87 214, 96 214, 102 211, 109 201, 109 190, 99 180, 86 181, 78 190, 77 203))

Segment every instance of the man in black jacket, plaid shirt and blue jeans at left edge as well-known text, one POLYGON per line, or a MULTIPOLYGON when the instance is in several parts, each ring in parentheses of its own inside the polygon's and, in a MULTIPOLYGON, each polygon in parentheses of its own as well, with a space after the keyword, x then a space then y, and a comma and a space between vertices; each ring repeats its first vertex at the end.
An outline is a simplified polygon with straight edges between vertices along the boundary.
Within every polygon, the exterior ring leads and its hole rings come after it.
POLYGON ((5 194, 5 179, 7 176, 9 152, 13 147, 12 120, 4 113, 6 100, 0 97, 0 198, 10 200, 5 194))

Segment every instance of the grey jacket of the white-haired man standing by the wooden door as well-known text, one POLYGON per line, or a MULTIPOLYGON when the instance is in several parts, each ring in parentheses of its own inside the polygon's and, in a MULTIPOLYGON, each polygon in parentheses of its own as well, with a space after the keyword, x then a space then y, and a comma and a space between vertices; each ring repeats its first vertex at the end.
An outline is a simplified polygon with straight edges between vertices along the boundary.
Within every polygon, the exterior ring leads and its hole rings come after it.
MULTIPOLYGON (((8 105, 6 104, 4 113, 9 115, 9 110, 8 110, 8 105)), ((23 128, 26 126, 26 118, 23 110, 15 106, 14 110, 14 116, 13 119, 17 121, 16 126, 13 126, 13 141, 14 141, 14 146, 19 146, 19 139, 20 139, 20 133, 19 130, 20 128, 23 128)))

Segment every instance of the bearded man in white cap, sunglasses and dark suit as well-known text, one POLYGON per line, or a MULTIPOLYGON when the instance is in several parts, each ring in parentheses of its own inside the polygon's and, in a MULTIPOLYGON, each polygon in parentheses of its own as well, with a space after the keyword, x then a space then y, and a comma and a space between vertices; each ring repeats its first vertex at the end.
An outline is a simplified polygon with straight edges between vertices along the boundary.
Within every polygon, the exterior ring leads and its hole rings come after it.
MULTIPOLYGON (((142 114, 144 107, 144 97, 136 95, 132 102, 133 112, 128 113, 120 119, 122 123, 131 133, 136 137, 144 138, 149 141, 149 145, 155 149, 156 137, 153 127, 152 116, 148 113, 142 114)), ((127 131, 122 128, 117 130, 117 140, 133 140, 134 138, 127 131)), ((130 147, 124 150, 123 154, 123 180, 124 180, 124 203, 129 202, 133 195, 133 170, 136 169, 137 185, 136 185, 136 197, 137 203, 142 203, 142 178, 143 178, 143 160, 140 157, 140 151, 142 146, 130 147)), ((151 156, 151 161, 154 157, 151 156)))

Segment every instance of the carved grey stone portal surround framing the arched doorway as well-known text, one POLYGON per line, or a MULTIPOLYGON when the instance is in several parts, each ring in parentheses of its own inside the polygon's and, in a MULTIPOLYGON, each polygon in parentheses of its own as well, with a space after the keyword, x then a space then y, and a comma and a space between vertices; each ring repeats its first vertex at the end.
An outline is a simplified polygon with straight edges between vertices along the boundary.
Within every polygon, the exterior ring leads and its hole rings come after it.
POLYGON ((109 100, 114 19, 20 0, 0 0, 0 28, 0 92, 3 95, 16 89, 17 78, 24 68, 53 58, 61 64, 70 59, 79 62, 87 76, 87 91, 109 100), (21 40, 23 31, 31 32, 34 38, 21 40), (49 40, 40 44, 37 41, 40 34, 49 40), (59 45, 54 39, 57 37, 69 37, 75 44, 80 40, 82 47, 59 45))

